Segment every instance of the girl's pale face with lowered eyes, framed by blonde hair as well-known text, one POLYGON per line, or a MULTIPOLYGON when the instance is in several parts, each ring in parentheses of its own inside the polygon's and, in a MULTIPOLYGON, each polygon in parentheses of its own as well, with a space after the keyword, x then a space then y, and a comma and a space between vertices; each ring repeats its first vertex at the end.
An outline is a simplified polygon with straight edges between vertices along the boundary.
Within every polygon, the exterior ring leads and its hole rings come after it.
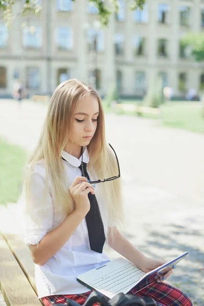
POLYGON ((79 101, 73 114, 68 143, 72 144, 72 155, 79 155, 81 147, 90 143, 97 127, 98 101, 89 95, 79 101))

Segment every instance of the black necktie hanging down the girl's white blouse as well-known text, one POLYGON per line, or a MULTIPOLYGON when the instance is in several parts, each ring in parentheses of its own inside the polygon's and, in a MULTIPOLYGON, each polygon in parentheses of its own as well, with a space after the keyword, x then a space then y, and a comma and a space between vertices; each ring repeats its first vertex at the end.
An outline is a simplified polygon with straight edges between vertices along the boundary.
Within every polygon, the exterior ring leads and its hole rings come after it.
MULTIPOLYGON (((82 165, 80 165, 80 170, 82 171, 82 165)), ((86 163, 83 162, 84 174, 87 179, 90 181, 86 163)), ((102 253, 103 246, 106 241, 104 233, 104 224, 100 216, 98 203, 95 197, 95 194, 88 193, 88 198, 90 201, 90 211, 86 215, 86 223, 89 234, 89 242, 92 251, 102 253)))

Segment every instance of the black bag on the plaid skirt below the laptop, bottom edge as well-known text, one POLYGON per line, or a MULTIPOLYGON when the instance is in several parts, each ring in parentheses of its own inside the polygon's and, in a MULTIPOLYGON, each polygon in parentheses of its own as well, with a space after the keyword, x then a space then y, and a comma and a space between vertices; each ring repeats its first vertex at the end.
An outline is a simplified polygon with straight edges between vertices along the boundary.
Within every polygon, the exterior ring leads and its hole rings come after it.
MULTIPOLYGON (((150 297, 139 297, 135 294, 118 293, 109 301, 105 296, 97 291, 93 291, 83 306, 93 306, 94 303, 100 303, 101 306, 157 306, 154 299, 150 297)), ((56 304, 63 305, 63 304, 56 304)), ((67 299, 68 306, 80 306, 77 302, 67 299)))

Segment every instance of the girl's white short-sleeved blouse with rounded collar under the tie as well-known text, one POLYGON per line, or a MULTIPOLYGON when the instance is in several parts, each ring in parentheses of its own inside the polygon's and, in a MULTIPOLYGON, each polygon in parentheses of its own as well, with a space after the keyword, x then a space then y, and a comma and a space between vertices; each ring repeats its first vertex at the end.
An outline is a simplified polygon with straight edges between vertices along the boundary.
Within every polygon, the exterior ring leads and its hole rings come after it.
MULTIPOLYGON (((77 159, 67 152, 62 151, 63 165, 67 174, 68 189, 76 176, 81 176, 81 158, 77 159)), ((83 154, 83 161, 89 162, 87 148, 83 154)), ((31 200, 29 203, 29 215, 25 214, 25 243, 37 244, 48 232, 63 222, 65 217, 58 212, 58 203, 53 197, 53 187, 49 181, 45 201, 43 202, 45 187, 45 167, 39 162, 34 169, 31 180, 31 200)), ((104 231, 107 237, 108 216, 103 207, 103 195, 97 192, 97 198, 101 218, 104 223, 104 231)), ((25 197, 24 197, 25 203, 25 197)), ((106 254, 97 253, 90 249, 86 219, 84 218, 73 232, 65 245, 50 258, 43 266, 35 264, 35 279, 38 297, 58 294, 78 294, 89 291, 88 288, 77 281, 77 276, 90 269, 96 268, 109 261, 106 254)))

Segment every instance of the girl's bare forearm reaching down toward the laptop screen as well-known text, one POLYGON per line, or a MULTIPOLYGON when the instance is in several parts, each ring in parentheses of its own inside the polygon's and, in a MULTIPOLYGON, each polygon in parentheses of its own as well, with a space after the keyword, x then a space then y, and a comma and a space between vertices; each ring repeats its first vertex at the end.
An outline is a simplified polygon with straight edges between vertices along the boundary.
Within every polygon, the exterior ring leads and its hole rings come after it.
POLYGON ((142 262, 146 258, 142 252, 134 247, 116 227, 109 227, 108 245, 137 267, 141 268, 142 262), (112 232, 112 233, 111 233, 112 232))

